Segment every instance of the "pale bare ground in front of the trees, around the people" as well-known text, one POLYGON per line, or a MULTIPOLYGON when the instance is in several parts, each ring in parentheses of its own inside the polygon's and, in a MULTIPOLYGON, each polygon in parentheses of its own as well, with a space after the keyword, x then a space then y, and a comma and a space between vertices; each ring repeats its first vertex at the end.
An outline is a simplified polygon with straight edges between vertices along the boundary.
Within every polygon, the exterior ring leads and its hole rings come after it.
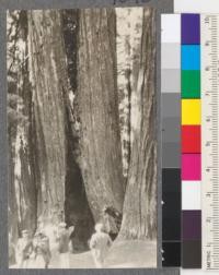
MULTIPOLYGON (((58 253, 53 253, 49 268, 64 268, 58 253)), ((37 263, 27 268, 37 268, 37 263)), ((105 261, 105 268, 157 266, 155 241, 120 241, 114 243, 105 261)), ((14 266, 15 267, 15 266, 14 266)), ((13 267, 12 267, 13 268, 13 267)), ((70 268, 95 268, 91 251, 70 254, 70 268)))

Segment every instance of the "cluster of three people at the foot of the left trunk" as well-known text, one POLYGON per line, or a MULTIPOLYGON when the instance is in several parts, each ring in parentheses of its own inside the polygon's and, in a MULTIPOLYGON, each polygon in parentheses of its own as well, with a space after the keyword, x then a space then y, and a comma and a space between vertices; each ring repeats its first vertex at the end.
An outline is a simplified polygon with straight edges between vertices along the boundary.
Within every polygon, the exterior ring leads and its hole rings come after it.
MULTIPOLYGON (((72 230, 72 227, 67 228, 66 223, 60 223, 57 230, 54 231, 62 268, 69 267, 69 237, 72 230)), ((9 259, 12 259, 12 264, 16 264, 19 268, 48 268, 51 261, 49 237, 42 228, 36 230, 33 238, 28 230, 23 230, 16 246, 9 237, 9 259)))

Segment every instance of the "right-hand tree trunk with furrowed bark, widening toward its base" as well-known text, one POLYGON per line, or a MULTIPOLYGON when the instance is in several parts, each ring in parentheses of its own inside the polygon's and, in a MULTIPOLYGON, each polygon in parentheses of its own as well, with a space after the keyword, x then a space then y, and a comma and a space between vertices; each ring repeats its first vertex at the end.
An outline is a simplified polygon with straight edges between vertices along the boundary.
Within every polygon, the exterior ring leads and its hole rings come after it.
POLYGON ((157 236, 155 13, 145 9, 140 62, 131 95, 132 145, 119 237, 157 236))

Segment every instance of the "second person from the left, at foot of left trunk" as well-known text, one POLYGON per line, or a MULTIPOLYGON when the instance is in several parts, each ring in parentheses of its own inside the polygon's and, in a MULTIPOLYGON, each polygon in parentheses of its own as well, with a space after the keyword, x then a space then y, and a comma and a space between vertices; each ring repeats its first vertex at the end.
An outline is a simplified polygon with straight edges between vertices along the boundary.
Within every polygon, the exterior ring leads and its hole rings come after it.
POLYGON ((51 260, 49 238, 43 231, 37 231, 34 236, 33 246, 37 268, 48 268, 51 260))

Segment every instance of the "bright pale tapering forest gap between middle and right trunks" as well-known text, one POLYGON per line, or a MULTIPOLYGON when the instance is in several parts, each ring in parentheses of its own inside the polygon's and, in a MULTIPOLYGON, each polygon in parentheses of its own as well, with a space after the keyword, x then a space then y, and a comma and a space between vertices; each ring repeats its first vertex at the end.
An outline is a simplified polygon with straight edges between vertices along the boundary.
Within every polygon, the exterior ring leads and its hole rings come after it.
POLYGON ((131 94, 136 88, 135 64, 139 65, 142 8, 116 8, 117 82, 124 176, 127 178, 131 145, 131 94))

